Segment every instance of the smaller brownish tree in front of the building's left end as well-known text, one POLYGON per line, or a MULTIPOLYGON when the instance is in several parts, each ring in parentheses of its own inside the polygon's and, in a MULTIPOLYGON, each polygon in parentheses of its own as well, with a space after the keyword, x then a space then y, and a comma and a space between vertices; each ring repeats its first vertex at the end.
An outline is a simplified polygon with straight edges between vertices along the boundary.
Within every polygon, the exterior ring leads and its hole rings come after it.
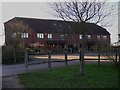
POLYGON ((23 21, 12 20, 5 23, 5 35, 6 35, 6 45, 10 45, 14 49, 14 61, 16 63, 16 49, 18 47, 26 46, 24 38, 22 38, 23 33, 31 34, 31 29, 28 25, 24 24, 23 21))

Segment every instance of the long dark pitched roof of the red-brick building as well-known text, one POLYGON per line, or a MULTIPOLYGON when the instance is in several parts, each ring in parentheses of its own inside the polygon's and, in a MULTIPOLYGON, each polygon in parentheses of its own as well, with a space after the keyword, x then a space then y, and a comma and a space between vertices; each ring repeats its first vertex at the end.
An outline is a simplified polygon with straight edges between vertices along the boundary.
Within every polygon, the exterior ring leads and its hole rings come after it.
MULTIPOLYGON (((35 32, 82 33, 81 23, 75 23, 72 21, 22 18, 22 17, 15 17, 13 19, 22 20, 25 24, 29 25, 29 27, 35 32)), ((105 28, 98 26, 94 23, 86 23, 84 28, 87 34, 110 35, 110 33, 105 28)))

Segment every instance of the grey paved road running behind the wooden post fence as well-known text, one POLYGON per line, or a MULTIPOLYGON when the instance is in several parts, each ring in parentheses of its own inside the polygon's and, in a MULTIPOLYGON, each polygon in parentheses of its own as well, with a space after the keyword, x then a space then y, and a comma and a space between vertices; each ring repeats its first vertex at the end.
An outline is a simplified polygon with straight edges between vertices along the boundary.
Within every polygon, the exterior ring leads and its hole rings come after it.
MULTIPOLYGON (((110 61, 101 61, 101 63, 111 63, 110 61)), ((73 65, 73 64, 79 64, 79 60, 73 60, 73 61, 68 61, 68 65, 73 65)), ((97 64, 97 60, 90 61, 87 60, 85 61, 85 64, 97 64)), ((65 62, 52 62, 51 64, 52 68, 54 67, 62 67, 65 66, 65 62)), ((41 69, 47 69, 48 68, 48 63, 43 63, 43 64, 32 64, 28 65, 28 71, 35 71, 35 70, 41 70, 41 69)), ((10 75, 16 75, 16 74, 22 74, 26 72, 26 67, 25 64, 17 64, 17 65, 3 65, 2 66, 2 76, 10 76, 10 75)))

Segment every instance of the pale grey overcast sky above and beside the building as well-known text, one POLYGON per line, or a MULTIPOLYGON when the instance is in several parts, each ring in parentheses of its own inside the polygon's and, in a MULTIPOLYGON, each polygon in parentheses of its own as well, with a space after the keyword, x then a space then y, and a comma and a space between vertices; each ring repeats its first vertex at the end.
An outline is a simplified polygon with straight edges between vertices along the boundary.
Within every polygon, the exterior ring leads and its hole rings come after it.
MULTIPOLYGON (((114 2, 115 3, 115 2, 114 2)), ((106 29, 111 33, 111 42, 118 41, 118 7, 115 6, 115 14, 110 18, 111 26, 106 29)), ((107 10, 107 9, 106 9, 107 10)), ((47 2, 3 2, 2 3, 2 23, 14 17, 30 17, 39 19, 58 19, 51 13, 54 11, 50 8, 47 2)), ((3 31, 0 31, 0 35, 3 31)), ((4 39, 0 36, 0 44, 4 39)))

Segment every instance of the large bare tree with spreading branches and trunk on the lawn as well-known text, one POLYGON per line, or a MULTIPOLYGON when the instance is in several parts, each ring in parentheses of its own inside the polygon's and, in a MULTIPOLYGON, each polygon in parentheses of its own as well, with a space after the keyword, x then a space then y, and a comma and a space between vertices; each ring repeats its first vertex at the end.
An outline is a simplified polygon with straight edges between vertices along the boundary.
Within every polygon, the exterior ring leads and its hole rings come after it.
POLYGON ((53 2, 50 3, 52 9, 56 12, 55 16, 63 19, 64 21, 73 21, 81 23, 82 30, 82 47, 81 47, 81 60, 80 60, 80 74, 84 74, 84 43, 86 38, 85 23, 93 22, 98 24, 105 20, 112 12, 111 10, 105 11, 107 6, 106 2, 97 2, 93 0, 71 0, 71 2, 53 2))

